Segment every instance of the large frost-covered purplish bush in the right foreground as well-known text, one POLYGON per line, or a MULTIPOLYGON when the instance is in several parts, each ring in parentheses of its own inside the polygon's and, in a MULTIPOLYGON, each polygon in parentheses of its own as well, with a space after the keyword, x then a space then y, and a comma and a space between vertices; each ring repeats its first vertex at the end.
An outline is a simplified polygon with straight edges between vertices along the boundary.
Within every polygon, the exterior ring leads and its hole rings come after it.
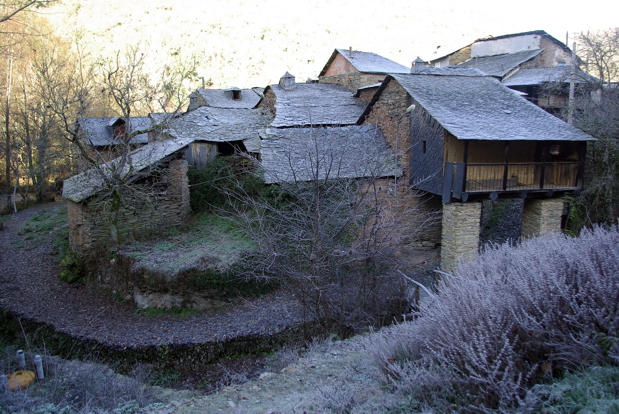
POLYGON ((371 342, 394 386, 437 408, 520 407, 566 368, 619 363, 619 233, 548 235, 459 265, 412 322, 371 342))

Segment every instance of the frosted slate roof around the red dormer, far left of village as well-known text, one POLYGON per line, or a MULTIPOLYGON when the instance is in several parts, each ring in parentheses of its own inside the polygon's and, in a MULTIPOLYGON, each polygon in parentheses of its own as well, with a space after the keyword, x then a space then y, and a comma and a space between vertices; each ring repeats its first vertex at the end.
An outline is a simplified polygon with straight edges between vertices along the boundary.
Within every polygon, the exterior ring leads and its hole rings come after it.
MULTIPOLYGON (((86 142, 93 147, 103 147, 105 145, 118 145, 121 140, 114 139, 112 124, 119 119, 118 116, 113 117, 89 117, 77 119, 78 126, 84 132, 86 142)), ((139 131, 150 126, 150 118, 148 116, 132 116, 131 131, 139 131)), ((149 142, 148 134, 136 135, 129 141, 129 144, 146 144, 149 142)))

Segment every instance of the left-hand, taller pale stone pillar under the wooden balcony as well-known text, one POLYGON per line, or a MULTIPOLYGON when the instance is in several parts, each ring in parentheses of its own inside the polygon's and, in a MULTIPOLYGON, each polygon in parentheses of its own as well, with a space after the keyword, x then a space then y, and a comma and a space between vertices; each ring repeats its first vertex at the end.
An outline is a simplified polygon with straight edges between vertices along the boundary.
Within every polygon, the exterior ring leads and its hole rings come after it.
POLYGON ((441 269, 451 272, 458 259, 477 252, 482 203, 479 201, 443 204, 441 269))

